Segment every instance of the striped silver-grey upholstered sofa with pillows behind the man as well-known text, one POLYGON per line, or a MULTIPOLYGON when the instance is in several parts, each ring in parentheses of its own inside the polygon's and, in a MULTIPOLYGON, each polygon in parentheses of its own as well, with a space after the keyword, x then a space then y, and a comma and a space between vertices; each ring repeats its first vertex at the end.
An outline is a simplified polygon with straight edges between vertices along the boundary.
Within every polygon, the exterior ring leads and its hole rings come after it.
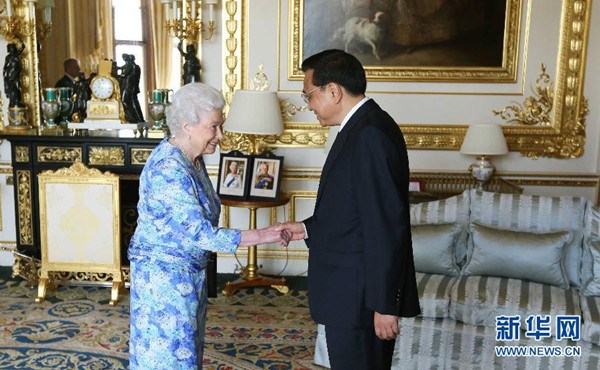
POLYGON ((401 319, 394 369, 600 369, 600 208, 470 190, 412 205, 411 223, 422 314, 401 319), (497 355, 511 346, 529 352, 497 355))

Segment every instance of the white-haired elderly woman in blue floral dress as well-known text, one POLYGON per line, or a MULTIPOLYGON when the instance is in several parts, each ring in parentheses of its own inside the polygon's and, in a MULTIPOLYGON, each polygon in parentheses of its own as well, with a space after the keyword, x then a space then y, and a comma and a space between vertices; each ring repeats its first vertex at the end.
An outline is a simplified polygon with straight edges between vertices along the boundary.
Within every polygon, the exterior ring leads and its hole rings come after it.
POLYGON ((153 150, 140 176, 128 252, 131 369, 202 368, 210 252, 289 241, 279 225, 218 227, 221 204, 202 155, 223 138, 224 104, 221 93, 201 83, 177 91, 166 111, 172 136, 153 150))

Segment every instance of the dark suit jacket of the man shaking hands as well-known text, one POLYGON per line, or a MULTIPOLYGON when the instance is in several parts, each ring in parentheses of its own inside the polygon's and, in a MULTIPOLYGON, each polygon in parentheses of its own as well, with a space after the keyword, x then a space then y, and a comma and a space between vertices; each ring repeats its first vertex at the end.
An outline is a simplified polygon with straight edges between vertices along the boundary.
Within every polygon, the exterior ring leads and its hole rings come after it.
POLYGON ((316 322, 365 328, 373 326, 373 311, 420 313, 408 183, 404 137, 392 117, 369 100, 335 139, 314 214, 304 220, 309 306, 316 322))

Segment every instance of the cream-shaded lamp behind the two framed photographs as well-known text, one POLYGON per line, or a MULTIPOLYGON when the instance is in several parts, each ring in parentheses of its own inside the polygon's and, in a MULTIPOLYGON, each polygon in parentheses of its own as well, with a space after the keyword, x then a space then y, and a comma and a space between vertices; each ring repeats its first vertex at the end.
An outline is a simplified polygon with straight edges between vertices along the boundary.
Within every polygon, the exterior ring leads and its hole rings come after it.
POLYGON ((263 90, 237 90, 227 114, 225 130, 249 136, 249 154, 259 154, 262 137, 283 132, 277 93, 263 90))

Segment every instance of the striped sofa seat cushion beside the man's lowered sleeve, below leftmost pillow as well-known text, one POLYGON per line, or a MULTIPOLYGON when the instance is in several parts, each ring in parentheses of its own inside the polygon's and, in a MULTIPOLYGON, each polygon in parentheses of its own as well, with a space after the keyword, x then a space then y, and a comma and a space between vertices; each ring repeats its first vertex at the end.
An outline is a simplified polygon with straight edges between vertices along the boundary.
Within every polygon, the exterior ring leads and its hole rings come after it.
POLYGON ((450 290, 456 278, 446 275, 416 273, 421 316, 448 317, 450 290))

